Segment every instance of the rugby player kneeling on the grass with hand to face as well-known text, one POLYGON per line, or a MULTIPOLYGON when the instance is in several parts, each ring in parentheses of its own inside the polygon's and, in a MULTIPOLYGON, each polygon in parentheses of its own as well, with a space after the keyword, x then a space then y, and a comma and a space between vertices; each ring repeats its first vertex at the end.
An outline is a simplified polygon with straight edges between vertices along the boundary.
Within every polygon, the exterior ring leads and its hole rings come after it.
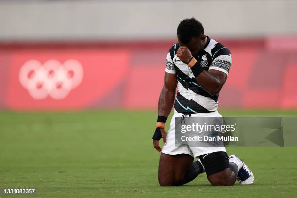
POLYGON ((161 152, 158 180, 161 186, 183 185, 206 172, 213 186, 252 184, 253 173, 236 155, 228 157, 222 147, 175 145, 175 118, 222 117, 217 111, 219 92, 231 67, 231 53, 204 35, 195 18, 185 19, 177 28, 178 43, 167 54, 164 86, 159 104, 154 148, 161 152), (178 92, 175 97, 176 87, 178 92), (170 129, 164 127, 174 104, 170 129), (163 138, 163 148, 159 140, 163 138), (194 161, 194 157, 199 158, 194 161))

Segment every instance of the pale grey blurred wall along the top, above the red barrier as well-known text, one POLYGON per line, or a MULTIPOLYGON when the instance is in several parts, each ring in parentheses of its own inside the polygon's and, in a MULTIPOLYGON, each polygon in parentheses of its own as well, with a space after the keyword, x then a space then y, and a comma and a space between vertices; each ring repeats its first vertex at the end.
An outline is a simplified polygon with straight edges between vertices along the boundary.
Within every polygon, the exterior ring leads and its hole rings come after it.
POLYGON ((297 0, 1 0, 0 40, 175 38, 195 17, 207 35, 297 34, 297 0))

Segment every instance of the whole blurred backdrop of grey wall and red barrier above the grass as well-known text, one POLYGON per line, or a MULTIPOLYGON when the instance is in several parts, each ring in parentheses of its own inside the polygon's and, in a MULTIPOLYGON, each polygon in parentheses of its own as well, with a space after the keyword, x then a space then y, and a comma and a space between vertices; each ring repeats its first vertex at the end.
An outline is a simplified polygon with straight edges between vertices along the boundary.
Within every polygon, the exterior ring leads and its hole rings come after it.
POLYGON ((156 109, 176 29, 232 53, 223 108, 297 108, 297 0, 1 0, 0 108, 156 109))

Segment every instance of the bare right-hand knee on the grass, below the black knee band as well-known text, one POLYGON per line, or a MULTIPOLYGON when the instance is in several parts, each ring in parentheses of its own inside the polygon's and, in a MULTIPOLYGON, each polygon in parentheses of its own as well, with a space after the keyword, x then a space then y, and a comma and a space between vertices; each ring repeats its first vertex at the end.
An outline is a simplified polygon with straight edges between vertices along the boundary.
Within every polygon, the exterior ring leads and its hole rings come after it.
POLYGON ((236 181, 236 176, 230 168, 227 168, 219 173, 208 176, 208 180, 213 186, 231 186, 236 181))

